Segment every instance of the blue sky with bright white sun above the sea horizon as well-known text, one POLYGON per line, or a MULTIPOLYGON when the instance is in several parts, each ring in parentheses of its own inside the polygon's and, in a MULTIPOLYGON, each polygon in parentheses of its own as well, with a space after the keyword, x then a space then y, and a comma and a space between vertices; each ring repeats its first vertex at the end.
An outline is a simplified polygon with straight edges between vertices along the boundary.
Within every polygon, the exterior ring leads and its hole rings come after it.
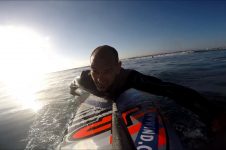
POLYGON ((0 1, 5 76, 12 68, 51 72, 86 66, 100 45, 115 47, 120 58, 226 47, 226 2, 0 1))

